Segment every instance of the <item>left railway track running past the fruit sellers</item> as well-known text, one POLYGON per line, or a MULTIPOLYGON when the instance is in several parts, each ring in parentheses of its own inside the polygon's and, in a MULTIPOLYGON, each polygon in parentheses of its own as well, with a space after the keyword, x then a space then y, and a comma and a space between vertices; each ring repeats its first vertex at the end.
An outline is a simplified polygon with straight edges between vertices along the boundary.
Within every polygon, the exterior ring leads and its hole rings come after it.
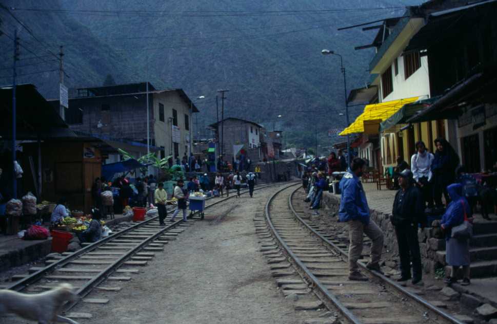
MULTIPOLYGON (((282 184, 268 184, 255 187, 262 190, 282 184)), ((242 194, 248 193, 242 190, 242 194)), ((228 198, 213 198, 206 203, 206 208, 223 203, 234 198, 236 193, 228 198)), ((173 207, 168 208, 169 220, 173 207)), ((74 303, 67 303, 64 311, 71 310, 79 301, 88 303, 107 303, 105 299, 91 299, 85 297, 93 290, 119 291, 121 287, 115 287, 112 283, 126 282, 131 279, 131 274, 138 273, 138 268, 146 266, 148 261, 153 260, 155 252, 164 250, 169 240, 184 231, 184 227, 190 226, 196 219, 200 219, 198 212, 189 217, 185 223, 181 218, 174 223, 167 223, 163 227, 158 222, 158 216, 151 217, 143 222, 133 224, 123 230, 115 232, 104 239, 87 244, 76 252, 63 253, 61 258, 48 260, 46 267, 31 268, 28 275, 17 275, 17 279, 6 289, 35 293, 55 287, 54 283, 70 283, 77 289, 81 297, 74 303), (106 283, 108 286, 101 286, 106 283)))

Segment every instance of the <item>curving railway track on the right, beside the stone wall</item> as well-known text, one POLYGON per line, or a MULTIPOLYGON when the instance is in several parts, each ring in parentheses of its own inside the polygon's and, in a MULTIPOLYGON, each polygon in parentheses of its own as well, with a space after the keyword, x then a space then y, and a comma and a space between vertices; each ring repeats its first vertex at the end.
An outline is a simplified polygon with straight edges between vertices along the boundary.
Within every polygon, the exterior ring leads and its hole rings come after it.
POLYGON ((346 321, 354 324, 463 324, 434 306, 440 302, 430 303, 384 275, 367 270, 362 262, 368 281, 348 280, 344 246, 333 243, 331 236, 293 207, 292 197, 299 188, 290 186, 274 193, 266 204, 264 223, 259 220, 256 226, 265 226, 272 233, 277 244, 274 249, 279 250, 273 256, 279 261, 288 260, 324 304, 332 305, 330 311, 338 309, 346 321))

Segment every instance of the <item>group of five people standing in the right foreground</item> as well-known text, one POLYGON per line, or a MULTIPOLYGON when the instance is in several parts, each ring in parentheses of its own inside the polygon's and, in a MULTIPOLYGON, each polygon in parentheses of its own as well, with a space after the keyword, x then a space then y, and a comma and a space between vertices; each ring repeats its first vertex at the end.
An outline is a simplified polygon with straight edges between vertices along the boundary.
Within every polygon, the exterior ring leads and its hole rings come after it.
MULTIPOLYGON (((397 158, 394 179, 398 191, 390 218, 400 256, 398 282, 411 279, 413 285, 422 283, 422 263, 418 228, 440 226, 446 240, 446 263, 452 267, 445 283, 457 282, 462 267, 461 285, 470 284, 469 239, 472 235, 472 214, 482 192, 488 190, 460 165, 459 157, 443 138, 435 139, 436 151, 428 152, 426 145, 415 143, 416 153, 411 165, 397 158), (427 215, 439 215, 439 221, 427 224, 427 215), (441 216, 441 217, 440 217, 441 216), (412 268, 412 272, 411 272, 412 268)), ((331 161, 334 161, 331 157, 331 161)), ((332 166, 335 164, 332 163, 332 166)), ((366 172, 366 161, 355 158, 340 182, 340 221, 349 225, 349 279, 366 280, 357 267, 363 249, 363 234, 371 240, 371 261, 367 268, 381 272, 383 249, 382 230, 370 218, 366 195, 360 181, 366 172)), ((319 179, 319 174, 317 174, 319 179)), ((310 183, 307 184, 310 186, 310 183)), ((482 211, 485 202, 482 201, 482 211)), ((488 213, 483 212, 488 219, 488 213)))

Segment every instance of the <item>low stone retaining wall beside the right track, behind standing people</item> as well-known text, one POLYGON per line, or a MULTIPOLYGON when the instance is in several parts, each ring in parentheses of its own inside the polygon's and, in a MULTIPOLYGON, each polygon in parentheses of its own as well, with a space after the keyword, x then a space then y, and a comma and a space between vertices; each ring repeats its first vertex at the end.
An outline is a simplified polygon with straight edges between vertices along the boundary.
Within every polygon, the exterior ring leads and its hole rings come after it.
MULTIPOLYGON (((333 195, 331 192, 325 192, 323 195, 323 207, 330 212, 336 212, 339 209, 340 196, 333 195)), ((382 229, 384 233, 384 248, 397 257, 399 248, 393 225, 390 222, 390 214, 371 210, 371 219, 382 229)), ((434 273, 435 269, 445 266, 445 239, 434 237, 436 230, 424 228, 418 230, 418 239, 420 242, 420 252, 423 263, 423 270, 426 273, 434 273)))

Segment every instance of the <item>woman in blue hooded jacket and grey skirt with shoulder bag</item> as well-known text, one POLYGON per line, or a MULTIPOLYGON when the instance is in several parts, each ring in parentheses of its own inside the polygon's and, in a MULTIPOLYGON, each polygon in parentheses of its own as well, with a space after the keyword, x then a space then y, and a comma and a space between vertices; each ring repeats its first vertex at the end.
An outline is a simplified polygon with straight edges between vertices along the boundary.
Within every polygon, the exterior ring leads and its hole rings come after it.
POLYGON ((445 278, 445 283, 450 285, 457 282, 456 273, 459 267, 463 267, 463 282, 461 285, 470 284, 470 258, 469 258, 469 239, 461 240, 451 237, 452 228, 461 225, 465 217, 471 217, 471 208, 468 201, 463 195, 463 186, 459 183, 451 184, 447 187, 451 202, 442 217, 441 227, 445 231, 445 240, 447 241, 445 261, 452 266, 450 276, 445 278))

